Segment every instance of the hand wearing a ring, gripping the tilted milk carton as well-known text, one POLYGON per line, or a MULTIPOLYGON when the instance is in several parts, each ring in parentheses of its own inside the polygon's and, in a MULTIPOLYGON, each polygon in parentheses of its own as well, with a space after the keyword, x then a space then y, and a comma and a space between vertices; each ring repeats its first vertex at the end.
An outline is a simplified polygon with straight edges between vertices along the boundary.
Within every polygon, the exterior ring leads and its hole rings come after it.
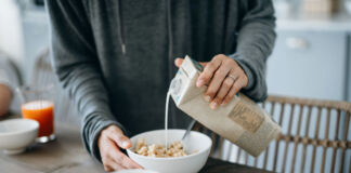
MULTIPOLYGON (((180 67, 183 58, 177 58, 174 64, 180 67)), ((242 67, 232 58, 219 54, 208 63, 200 63, 204 71, 197 78, 196 86, 208 85, 204 98, 210 103, 211 109, 226 105, 234 95, 248 83, 242 67)))

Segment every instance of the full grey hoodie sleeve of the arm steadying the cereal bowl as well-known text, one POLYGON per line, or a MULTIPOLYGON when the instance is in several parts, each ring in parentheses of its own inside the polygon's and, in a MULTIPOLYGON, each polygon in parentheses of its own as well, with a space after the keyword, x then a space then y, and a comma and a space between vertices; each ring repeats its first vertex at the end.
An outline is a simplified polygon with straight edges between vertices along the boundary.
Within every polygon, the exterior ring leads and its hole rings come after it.
POLYGON ((63 88, 82 116, 82 141, 101 161, 100 132, 110 124, 123 129, 109 108, 107 91, 84 6, 76 0, 47 0, 52 64, 63 88))

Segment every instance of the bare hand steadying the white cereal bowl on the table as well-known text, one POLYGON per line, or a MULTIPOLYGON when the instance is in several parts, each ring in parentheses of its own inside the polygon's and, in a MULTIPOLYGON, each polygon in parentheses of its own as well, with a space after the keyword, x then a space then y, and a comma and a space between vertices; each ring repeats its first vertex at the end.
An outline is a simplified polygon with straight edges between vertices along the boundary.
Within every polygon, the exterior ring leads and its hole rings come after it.
POLYGON ((98 146, 106 172, 143 169, 120 151, 119 148, 128 149, 132 144, 117 125, 109 125, 101 132, 98 146))

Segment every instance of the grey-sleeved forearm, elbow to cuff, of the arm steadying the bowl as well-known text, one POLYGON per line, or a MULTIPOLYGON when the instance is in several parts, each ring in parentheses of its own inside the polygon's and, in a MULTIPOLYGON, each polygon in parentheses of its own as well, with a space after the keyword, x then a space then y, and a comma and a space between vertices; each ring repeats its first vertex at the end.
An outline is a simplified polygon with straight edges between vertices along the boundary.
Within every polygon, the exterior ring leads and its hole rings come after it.
POLYGON ((103 129, 116 124, 122 129, 110 112, 108 96, 101 72, 93 64, 61 67, 56 74, 73 98, 81 118, 81 136, 87 150, 101 161, 98 138, 103 129))

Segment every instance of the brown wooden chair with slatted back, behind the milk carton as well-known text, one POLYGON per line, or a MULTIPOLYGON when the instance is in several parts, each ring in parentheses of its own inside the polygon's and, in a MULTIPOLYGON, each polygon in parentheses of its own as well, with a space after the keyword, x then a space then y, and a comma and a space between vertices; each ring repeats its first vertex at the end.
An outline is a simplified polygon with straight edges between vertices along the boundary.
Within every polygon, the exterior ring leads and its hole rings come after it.
POLYGON ((199 123, 194 130, 209 134, 210 155, 226 161, 274 172, 351 172, 351 103, 272 95, 261 106, 282 134, 258 158, 199 123))

